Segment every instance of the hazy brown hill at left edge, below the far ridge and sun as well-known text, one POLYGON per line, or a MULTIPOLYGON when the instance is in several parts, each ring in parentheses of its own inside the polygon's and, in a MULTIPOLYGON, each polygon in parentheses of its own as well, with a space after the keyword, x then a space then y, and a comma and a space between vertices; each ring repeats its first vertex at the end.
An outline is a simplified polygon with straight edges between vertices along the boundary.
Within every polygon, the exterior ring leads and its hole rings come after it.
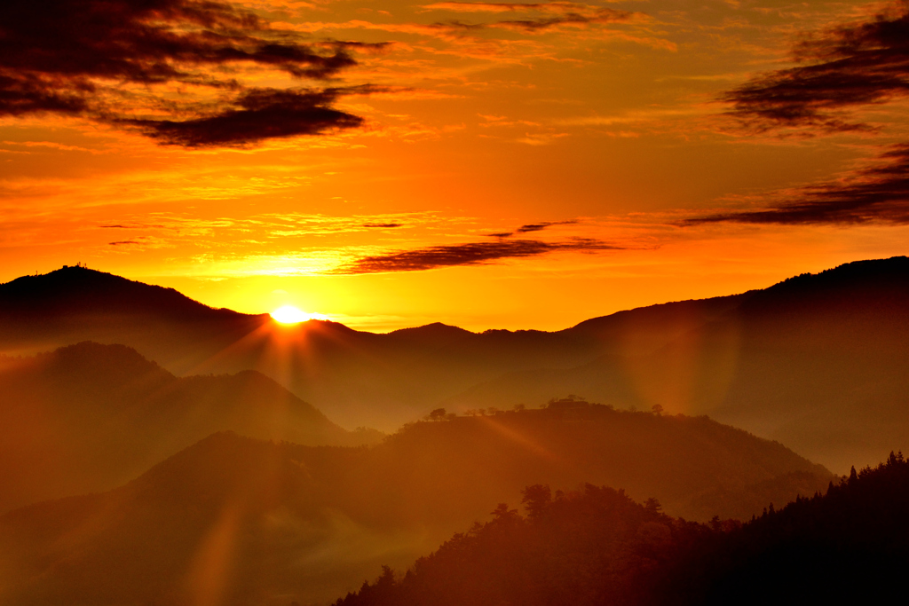
POLYGON ((124 345, 78 343, 0 362, 0 512, 109 490, 219 431, 353 445, 346 432, 254 371, 177 378, 124 345))

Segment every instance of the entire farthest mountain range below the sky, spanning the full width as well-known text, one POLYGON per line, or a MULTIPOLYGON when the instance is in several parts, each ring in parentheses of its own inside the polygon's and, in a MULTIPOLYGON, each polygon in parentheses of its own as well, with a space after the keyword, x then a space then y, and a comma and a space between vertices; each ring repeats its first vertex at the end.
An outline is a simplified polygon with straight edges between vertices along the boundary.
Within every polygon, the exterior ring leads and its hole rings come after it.
POLYGON ((347 427, 392 431, 440 406, 538 406, 574 393, 709 414, 837 472, 880 461, 909 436, 905 257, 554 333, 286 327, 82 267, 0 285, 0 350, 84 340, 123 343, 176 374, 256 370, 347 427))

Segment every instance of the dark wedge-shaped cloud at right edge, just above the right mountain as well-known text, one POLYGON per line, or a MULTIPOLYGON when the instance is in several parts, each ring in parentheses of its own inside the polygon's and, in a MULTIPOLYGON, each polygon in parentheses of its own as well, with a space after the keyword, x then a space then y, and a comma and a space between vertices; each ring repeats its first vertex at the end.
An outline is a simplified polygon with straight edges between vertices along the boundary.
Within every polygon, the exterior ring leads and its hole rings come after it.
POLYGON ((909 144, 841 181, 804 187, 788 201, 756 211, 712 214, 684 224, 909 224, 909 144))

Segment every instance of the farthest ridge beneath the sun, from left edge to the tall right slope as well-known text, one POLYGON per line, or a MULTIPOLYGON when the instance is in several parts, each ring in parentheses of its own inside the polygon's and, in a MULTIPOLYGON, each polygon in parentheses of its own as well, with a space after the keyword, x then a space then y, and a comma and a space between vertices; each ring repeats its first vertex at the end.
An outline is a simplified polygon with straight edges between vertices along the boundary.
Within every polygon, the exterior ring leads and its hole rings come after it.
POLYGON ((470 333, 436 323, 374 334, 321 321, 282 326, 267 315, 215 310, 170 289, 65 267, 0 284, 0 352, 123 343, 176 374, 257 370, 338 422, 392 430, 503 373, 652 351, 736 300, 726 299, 614 314, 558 333, 470 333))

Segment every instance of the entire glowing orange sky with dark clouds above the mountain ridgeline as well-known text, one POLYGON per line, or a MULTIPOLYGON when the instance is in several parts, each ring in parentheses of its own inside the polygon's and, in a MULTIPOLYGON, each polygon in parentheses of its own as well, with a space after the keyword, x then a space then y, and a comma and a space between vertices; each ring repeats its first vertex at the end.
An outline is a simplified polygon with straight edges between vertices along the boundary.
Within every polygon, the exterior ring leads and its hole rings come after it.
POLYGON ((0 8, 0 282, 82 262, 366 330, 553 330, 904 254, 906 15, 0 8))

